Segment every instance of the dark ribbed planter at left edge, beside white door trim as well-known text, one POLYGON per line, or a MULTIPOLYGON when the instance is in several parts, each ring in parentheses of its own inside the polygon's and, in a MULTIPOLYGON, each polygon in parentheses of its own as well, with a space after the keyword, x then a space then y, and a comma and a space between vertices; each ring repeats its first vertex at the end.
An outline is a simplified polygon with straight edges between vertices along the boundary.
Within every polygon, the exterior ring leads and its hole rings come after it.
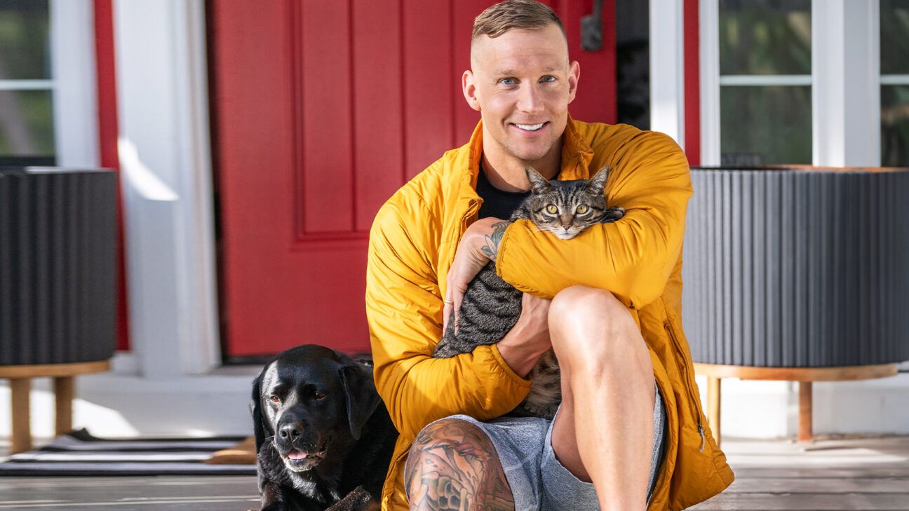
POLYGON ((0 366, 114 355, 110 171, 0 168, 0 366))

